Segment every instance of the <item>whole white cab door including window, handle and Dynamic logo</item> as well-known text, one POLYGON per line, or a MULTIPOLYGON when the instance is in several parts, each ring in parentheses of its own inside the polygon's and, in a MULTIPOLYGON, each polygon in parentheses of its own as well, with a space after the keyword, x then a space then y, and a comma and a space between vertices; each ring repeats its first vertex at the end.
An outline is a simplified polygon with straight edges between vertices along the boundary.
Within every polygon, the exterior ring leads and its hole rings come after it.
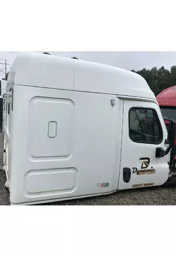
POLYGON ((166 150, 166 138, 166 126, 156 103, 124 100, 118 189, 160 186, 166 182, 169 156, 156 158, 157 147, 166 150))

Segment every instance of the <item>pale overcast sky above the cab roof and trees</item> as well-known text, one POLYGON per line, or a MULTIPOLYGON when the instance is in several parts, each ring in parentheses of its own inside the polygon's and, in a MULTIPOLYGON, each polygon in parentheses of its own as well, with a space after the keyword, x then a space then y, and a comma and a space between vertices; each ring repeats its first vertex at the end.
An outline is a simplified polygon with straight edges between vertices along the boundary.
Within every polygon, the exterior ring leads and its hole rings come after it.
MULTIPOLYGON (((80 60, 108 64, 127 70, 141 70, 142 68, 150 69, 152 67, 160 68, 162 66, 170 69, 170 67, 176 65, 176 52, 49 52, 53 55, 68 58, 77 57, 80 60)), ((12 65, 17 54, 18 52, 0 51, 0 59, 6 59, 8 63, 12 65)), ((0 60, 0 63, 4 63, 4 61, 0 60)), ((7 70, 10 70, 10 65, 8 65, 7 70)), ((4 68, 4 65, 0 64, 0 68, 4 68)), ((0 77, 4 77, 1 70, 0 77)))

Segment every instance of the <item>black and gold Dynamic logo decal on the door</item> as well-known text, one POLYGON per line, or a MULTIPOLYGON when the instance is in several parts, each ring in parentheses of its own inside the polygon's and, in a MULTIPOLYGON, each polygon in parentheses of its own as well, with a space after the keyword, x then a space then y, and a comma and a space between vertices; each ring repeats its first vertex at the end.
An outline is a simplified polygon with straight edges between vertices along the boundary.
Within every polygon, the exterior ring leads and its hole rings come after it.
POLYGON ((136 175, 144 175, 144 174, 154 174, 156 173, 156 170, 151 167, 150 169, 148 168, 150 164, 150 158, 148 157, 141 157, 141 170, 138 170, 136 167, 132 167, 132 173, 136 173, 136 175), (147 169, 148 168, 148 169, 147 169))

